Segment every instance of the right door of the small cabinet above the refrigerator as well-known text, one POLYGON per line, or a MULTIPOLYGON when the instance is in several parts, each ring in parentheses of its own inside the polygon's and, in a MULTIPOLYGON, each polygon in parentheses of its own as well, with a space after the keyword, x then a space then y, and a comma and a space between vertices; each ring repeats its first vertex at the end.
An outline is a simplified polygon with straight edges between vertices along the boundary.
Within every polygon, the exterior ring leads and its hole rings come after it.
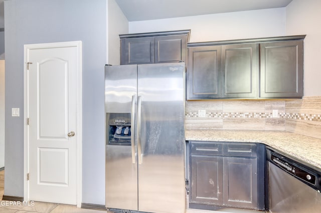
POLYGON ((186 62, 187 35, 155 37, 155 63, 186 62))

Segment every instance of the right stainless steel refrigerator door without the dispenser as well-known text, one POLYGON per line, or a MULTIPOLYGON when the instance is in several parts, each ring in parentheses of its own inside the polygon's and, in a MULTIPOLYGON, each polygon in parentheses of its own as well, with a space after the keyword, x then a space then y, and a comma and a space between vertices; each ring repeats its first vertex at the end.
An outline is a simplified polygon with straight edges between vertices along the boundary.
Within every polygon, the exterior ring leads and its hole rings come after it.
POLYGON ((138 65, 139 211, 185 212, 184 70, 184 63, 138 65))

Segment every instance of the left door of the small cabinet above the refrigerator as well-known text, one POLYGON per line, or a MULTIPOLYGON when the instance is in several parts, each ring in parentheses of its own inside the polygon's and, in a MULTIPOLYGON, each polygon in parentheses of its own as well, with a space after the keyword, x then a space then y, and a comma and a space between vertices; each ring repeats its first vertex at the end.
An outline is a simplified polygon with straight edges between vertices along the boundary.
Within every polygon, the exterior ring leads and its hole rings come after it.
POLYGON ((154 37, 126 38, 121 42, 121 65, 154 63, 154 37))

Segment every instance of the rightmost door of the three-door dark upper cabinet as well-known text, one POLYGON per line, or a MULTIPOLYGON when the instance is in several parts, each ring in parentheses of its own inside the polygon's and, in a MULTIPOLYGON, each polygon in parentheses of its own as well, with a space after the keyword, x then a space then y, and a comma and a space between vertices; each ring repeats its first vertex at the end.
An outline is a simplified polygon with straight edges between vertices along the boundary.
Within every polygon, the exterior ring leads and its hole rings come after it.
POLYGON ((260 44, 260 97, 303 96, 303 40, 260 44))

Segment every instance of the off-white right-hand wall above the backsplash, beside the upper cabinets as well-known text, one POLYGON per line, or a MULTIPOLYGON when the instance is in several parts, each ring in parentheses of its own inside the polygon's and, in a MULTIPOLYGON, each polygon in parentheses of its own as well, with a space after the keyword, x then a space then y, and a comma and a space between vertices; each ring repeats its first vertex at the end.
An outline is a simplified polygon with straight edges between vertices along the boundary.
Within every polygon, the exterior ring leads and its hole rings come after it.
POLYGON ((304 96, 321 95, 321 1, 292 0, 285 8, 285 32, 304 39, 304 96))

